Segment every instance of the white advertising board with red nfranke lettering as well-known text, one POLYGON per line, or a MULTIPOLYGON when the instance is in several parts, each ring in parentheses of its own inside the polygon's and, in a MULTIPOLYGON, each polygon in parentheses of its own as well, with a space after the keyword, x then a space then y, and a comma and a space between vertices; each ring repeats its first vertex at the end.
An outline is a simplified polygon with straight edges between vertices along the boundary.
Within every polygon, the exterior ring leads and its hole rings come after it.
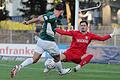
POLYGON ((0 44, 0 56, 32 57, 34 49, 34 44, 0 44))

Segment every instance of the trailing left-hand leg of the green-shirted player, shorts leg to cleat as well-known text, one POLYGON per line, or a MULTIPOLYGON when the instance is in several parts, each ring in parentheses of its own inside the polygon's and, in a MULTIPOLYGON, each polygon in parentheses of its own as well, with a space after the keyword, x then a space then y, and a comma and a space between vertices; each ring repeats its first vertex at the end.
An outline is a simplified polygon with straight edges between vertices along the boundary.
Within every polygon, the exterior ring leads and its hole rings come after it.
MULTIPOLYGON (((39 44, 39 43, 40 43, 40 40, 37 42, 37 44, 39 44)), ((43 52, 44 52, 44 50, 39 45, 36 45, 34 55, 32 58, 28 58, 25 61, 23 61, 21 64, 13 67, 13 69, 11 70, 11 73, 10 73, 11 78, 13 78, 17 74, 17 72, 19 72, 25 66, 36 63, 40 59, 43 52)))

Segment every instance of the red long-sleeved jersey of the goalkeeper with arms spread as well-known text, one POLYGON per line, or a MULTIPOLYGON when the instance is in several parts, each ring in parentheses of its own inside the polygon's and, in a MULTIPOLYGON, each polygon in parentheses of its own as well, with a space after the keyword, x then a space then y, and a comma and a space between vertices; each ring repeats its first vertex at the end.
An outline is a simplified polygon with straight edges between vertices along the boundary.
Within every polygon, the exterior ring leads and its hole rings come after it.
MULTIPOLYGON (((57 28, 56 32, 61 34, 61 35, 68 35, 72 36, 72 42, 70 44, 69 49, 74 49, 80 54, 85 54, 88 45, 92 40, 99 40, 99 41, 104 41, 109 38, 111 38, 110 35, 105 35, 105 36, 99 36, 91 32, 87 32, 86 34, 82 34, 79 30, 62 30, 57 28)), ((69 50, 68 49, 68 50, 69 50)))

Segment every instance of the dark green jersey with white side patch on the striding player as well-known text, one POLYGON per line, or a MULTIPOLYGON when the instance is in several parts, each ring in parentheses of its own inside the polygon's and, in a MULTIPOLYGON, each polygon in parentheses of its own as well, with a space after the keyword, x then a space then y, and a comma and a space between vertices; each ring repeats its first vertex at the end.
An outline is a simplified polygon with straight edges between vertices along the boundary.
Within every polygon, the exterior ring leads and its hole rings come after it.
POLYGON ((53 12, 48 12, 43 15, 44 23, 40 38, 48 41, 55 41, 55 28, 57 27, 57 18, 53 12))

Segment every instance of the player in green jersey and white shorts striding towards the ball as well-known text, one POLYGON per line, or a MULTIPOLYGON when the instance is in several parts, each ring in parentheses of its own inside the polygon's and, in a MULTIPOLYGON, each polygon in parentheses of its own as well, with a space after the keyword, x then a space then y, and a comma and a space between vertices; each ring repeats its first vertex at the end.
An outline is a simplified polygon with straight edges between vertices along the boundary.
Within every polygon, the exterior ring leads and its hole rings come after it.
MULTIPOLYGON (((55 6, 53 12, 48 12, 44 15, 40 15, 38 18, 31 19, 29 21, 25 21, 24 24, 28 25, 35 22, 43 22, 42 32, 39 35, 39 39, 36 44, 36 48, 34 51, 34 55, 32 58, 28 58, 23 61, 20 65, 16 65, 11 71, 11 78, 13 78, 20 69, 23 67, 36 63, 40 58, 44 51, 50 53, 50 55, 54 58, 55 66, 60 72, 60 74, 67 74, 71 72, 70 68, 63 69, 60 61, 60 51, 55 43, 55 28, 57 27, 57 19, 63 13, 63 5, 58 4, 55 6)), ((47 72, 47 71, 44 71, 47 72)))

